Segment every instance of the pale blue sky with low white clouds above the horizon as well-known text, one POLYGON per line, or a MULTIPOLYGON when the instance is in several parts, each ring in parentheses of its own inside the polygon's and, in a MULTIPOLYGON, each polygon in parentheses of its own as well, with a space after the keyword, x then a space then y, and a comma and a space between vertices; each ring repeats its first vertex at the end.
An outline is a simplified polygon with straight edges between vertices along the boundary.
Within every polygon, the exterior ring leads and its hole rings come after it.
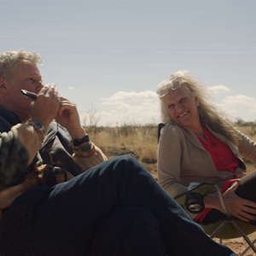
POLYGON ((160 122, 155 88, 178 70, 230 119, 256 120, 256 1, 1 1, 0 52, 36 50, 44 84, 81 122, 160 122), (84 117, 87 116, 87 119, 84 117))

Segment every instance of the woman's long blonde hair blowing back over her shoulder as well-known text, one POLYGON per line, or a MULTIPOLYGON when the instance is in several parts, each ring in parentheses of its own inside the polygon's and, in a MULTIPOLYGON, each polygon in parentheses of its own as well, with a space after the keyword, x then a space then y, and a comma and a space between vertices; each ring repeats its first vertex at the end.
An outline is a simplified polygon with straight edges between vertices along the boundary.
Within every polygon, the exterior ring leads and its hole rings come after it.
MULTIPOLYGON (((231 125, 230 120, 227 115, 223 113, 219 108, 213 103, 212 97, 209 95, 207 88, 201 82, 201 80, 196 79, 195 76, 189 71, 178 71, 173 73, 169 79, 163 84, 172 84, 173 80, 180 80, 180 83, 186 90, 189 90, 189 94, 195 93, 199 98, 200 106, 198 107, 198 113, 201 125, 208 125, 212 131, 221 133, 226 137, 231 143, 237 144, 236 133, 234 132, 234 127, 231 125)), ((158 85, 158 90, 160 90, 160 84, 158 85)), ((167 113, 167 108, 162 98, 160 98, 160 112, 161 121, 164 124, 172 123, 172 119, 167 113)))

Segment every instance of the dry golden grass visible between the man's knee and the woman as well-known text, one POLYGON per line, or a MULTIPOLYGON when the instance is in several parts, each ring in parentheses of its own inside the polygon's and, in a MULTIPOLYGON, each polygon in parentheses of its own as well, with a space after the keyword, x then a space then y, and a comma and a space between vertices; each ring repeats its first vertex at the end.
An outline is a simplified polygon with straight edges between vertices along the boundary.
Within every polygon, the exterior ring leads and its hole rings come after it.
POLYGON ((156 177, 158 127, 154 125, 137 127, 86 128, 91 141, 102 149, 108 159, 129 154, 139 160, 156 177))

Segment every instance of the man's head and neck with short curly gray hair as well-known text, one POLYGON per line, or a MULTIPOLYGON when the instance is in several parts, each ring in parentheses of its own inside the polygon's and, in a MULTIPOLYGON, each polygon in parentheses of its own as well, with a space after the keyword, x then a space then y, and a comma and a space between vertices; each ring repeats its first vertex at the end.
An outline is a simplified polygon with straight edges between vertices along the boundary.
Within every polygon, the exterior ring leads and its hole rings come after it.
POLYGON ((38 94, 43 88, 38 64, 41 56, 36 52, 8 51, 0 55, 0 105, 14 112, 21 121, 31 119, 28 101, 20 95, 21 89, 38 94))

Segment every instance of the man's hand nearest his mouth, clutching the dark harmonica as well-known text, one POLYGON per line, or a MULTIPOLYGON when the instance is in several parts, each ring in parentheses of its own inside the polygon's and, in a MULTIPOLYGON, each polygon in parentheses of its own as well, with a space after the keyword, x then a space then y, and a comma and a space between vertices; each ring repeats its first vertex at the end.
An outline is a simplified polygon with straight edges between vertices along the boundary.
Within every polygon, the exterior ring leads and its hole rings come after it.
POLYGON ((32 119, 44 125, 47 130, 50 122, 55 119, 61 104, 55 84, 46 84, 38 93, 35 102, 30 104, 32 119))

